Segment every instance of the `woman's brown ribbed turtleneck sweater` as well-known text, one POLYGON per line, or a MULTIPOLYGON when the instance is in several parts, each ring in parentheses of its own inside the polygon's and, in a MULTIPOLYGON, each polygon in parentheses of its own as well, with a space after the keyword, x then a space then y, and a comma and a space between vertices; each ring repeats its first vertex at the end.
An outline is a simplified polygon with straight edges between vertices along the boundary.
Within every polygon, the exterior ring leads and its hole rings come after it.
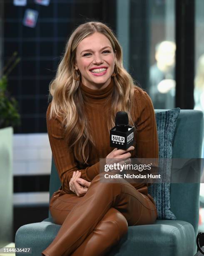
MULTIPOLYGON (((85 112, 90 121, 90 130, 95 139, 96 148, 90 152, 89 164, 82 172, 81 178, 87 181, 99 174, 99 159, 106 156, 114 149, 110 147, 109 131, 107 129, 107 113, 110 109, 111 100, 107 101, 107 97, 114 90, 114 81, 111 79, 110 84, 101 90, 93 90, 80 83, 82 94, 86 95, 85 112)), ((135 149, 132 151, 132 157, 137 158, 158 158, 158 140, 157 128, 155 121, 154 108, 152 101, 141 88, 135 87, 136 109, 134 122, 137 125, 135 149)), ((52 117, 50 114, 49 104, 47 108, 47 132, 50 140, 52 154, 55 160, 55 166, 59 174, 62 189, 65 193, 72 193, 69 189, 69 182, 74 171, 77 171, 77 162, 75 156, 67 152, 67 144, 63 137, 62 119, 52 117)), ((132 184, 140 192, 147 195, 147 184, 132 184)))

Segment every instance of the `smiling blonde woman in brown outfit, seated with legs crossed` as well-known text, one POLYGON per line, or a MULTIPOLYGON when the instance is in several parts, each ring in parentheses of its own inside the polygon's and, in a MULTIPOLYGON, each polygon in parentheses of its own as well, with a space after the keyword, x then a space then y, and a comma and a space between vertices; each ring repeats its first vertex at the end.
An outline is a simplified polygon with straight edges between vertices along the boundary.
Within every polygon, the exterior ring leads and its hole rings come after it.
POLYGON ((122 50, 100 22, 80 25, 70 36, 50 84, 47 131, 62 186, 50 212, 62 225, 42 255, 105 255, 128 225, 157 218, 147 184, 100 182, 99 159, 158 158, 157 129, 150 97, 134 85, 122 65, 122 50), (127 150, 109 146, 118 111, 137 125, 136 143, 127 150))

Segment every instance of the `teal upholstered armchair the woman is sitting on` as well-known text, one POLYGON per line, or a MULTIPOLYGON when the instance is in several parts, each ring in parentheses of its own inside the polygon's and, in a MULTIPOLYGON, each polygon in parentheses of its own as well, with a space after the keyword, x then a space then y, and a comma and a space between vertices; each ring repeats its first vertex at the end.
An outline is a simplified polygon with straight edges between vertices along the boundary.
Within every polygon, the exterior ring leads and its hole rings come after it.
MULTIPOLYGON (((155 110, 160 111, 165 110, 155 110)), ((173 158, 200 158, 202 136, 203 113, 181 110, 174 135, 173 158)), ((60 185, 52 159, 50 197, 60 185)), ((156 220, 153 225, 128 227, 127 234, 112 248, 109 256, 194 256, 197 252, 199 188, 200 184, 171 184, 171 210, 177 220, 156 220)), ((32 247, 30 255, 40 256, 59 229, 60 225, 53 223, 49 212, 49 218, 42 222, 27 224, 17 230, 15 247, 32 247)))

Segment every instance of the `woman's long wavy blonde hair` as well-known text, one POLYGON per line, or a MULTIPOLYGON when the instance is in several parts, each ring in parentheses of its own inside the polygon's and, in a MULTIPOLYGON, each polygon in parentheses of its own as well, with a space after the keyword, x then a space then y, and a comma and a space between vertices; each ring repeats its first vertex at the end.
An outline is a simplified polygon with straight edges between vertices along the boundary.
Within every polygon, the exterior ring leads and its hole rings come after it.
POLYGON ((136 85, 123 67, 121 46, 113 31, 104 23, 97 21, 83 23, 73 31, 67 41, 65 53, 58 65, 56 76, 50 82, 49 95, 49 99, 52 99, 50 118, 55 116, 62 118, 67 148, 72 150, 75 158, 81 164, 88 164, 90 146, 95 146, 95 141, 92 138, 89 122, 84 112, 84 95, 80 88, 80 81, 73 79, 75 76, 74 64, 78 44, 95 32, 102 33, 109 39, 112 49, 116 53, 115 64, 118 68, 118 74, 113 78, 115 87, 111 95, 112 104, 109 110, 107 128, 110 130, 114 127, 114 119, 118 111, 126 111, 129 116, 129 123, 135 127, 132 117, 135 110, 134 87, 136 85))

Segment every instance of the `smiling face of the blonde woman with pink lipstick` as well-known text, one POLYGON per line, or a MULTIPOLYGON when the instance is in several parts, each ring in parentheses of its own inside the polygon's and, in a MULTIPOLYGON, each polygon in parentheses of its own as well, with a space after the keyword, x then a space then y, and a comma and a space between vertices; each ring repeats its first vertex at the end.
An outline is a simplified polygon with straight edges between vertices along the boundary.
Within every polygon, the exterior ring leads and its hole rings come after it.
POLYGON ((90 89, 103 89, 114 72, 115 53, 109 39, 95 32, 77 46, 75 69, 79 69, 82 84, 90 89))

